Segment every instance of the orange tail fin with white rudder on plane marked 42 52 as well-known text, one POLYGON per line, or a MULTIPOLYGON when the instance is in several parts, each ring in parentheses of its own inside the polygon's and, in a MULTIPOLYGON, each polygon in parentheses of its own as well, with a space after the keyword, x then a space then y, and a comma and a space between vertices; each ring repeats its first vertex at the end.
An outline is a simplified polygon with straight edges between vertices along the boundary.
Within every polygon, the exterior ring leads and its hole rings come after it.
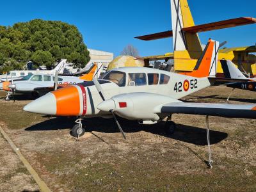
POLYGON ((204 52, 196 62, 194 70, 192 72, 184 72, 180 74, 193 77, 216 76, 218 51, 219 42, 209 39, 204 52))

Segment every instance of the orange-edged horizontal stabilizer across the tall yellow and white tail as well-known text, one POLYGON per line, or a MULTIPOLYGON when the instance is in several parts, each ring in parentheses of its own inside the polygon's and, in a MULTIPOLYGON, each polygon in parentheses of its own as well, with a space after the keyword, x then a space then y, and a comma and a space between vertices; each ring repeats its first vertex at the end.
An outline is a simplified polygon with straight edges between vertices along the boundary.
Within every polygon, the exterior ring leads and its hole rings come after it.
MULTIPOLYGON (((255 23, 256 23, 256 19, 253 17, 239 17, 236 19, 221 20, 218 22, 211 22, 208 24, 192 26, 189 28, 182 28, 182 31, 186 31, 188 33, 199 33, 199 32, 232 28, 236 26, 243 26, 243 25, 255 24, 255 23)), ((153 33, 150 35, 136 36, 135 38, 148 41, 148 40, 157 40, 160 38, 167 38, 167 37, 171 37, 172 35, 173 35, 172 31, 164 31, 160 33, 153 33)))

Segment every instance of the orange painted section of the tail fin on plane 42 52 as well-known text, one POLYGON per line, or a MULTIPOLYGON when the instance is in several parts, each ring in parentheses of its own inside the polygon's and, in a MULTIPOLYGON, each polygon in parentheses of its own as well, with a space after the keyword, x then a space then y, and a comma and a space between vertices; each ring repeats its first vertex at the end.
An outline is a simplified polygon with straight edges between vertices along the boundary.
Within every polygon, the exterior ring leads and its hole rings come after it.
POLYGON ((207 51, 205 52, 204 58, 202 59, 198 70, 193 70, 192 72, 183 72, 180 73, 186 76, 192 77, 208 77, 211 67, 212 53, 214 49, 214 42, 210 41, 207 51))

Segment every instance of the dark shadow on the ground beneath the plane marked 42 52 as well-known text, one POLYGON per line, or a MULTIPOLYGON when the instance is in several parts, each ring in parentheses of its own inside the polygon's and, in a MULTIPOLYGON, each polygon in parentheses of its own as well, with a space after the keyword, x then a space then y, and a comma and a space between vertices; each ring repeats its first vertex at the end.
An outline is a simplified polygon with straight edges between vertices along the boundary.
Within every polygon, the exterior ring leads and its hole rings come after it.
MULTIPOLYGON (((32 125, 26 128, 26 131, 51 131, 58 129, 70 129, 74 126, 74 118, 57 117, 45 120, 38 124, 32 125)), ((174 140, 184 141, 186 143, 193 143, 195 145, 207 145, 206 129, 199 127, 193 127, 188 125, 177 124, 177 128, 174 134, 167 136, 164 132, 164 122, 160 122, 154 125, 141 125, 137 121, 125 120, 124 118, 118 118, 122 129, 125 132, 151 132, 152 134, 158 134, 165 136, 166 138, 172 138, 174 140)), ((104 132, 115 133, 119 132, 115 121, 104 118, 88 118, 83 120, 86 132, 104 132)), ((210 130, 211 144, 219 143, 227 138, 228 134, 220 131, 210 130)))

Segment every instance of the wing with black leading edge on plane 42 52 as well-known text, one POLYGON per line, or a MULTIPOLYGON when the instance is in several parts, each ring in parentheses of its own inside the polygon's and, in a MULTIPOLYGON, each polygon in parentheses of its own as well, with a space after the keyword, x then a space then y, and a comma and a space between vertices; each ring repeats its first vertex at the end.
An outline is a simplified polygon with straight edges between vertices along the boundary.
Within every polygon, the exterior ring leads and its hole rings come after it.
POLYGON ((215 104, 196 102, 171 102, 164 104, 161 113, 223 116, 231 118, 256 118, 256 104, 215 104))

